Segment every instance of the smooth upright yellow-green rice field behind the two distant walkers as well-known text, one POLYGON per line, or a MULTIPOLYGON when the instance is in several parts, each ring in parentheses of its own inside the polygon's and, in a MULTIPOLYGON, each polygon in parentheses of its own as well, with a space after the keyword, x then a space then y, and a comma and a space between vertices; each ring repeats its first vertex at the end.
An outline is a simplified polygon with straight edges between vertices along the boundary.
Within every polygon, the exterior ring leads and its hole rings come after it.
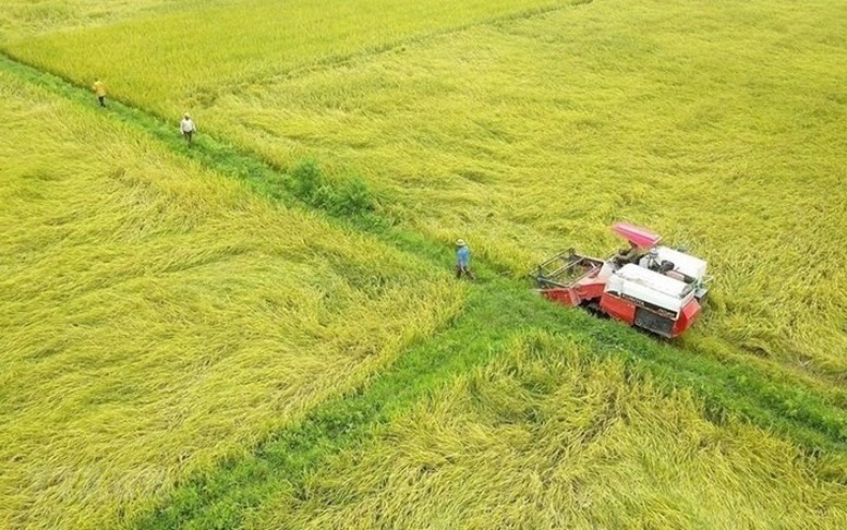
MULTIPOLYGON (((184 3, 184 5, 181 5, 184 3)), ((21 59, 162 116, 198 109, 268 76, 570 0, 218 0, 114 24, 11 39, 21 59), (120 43, 120 46, 113 44, 120 43), (90 50, 96 50, 90 52, 90 50), (61 59, 60 59, 61 58, 61 59)), ((129 5, 125 9, 130 9, 129 5)), ((120 11, 120 10, 119 10, 120 11)), ((202 116, 202 115, 198 115, 202 116)))

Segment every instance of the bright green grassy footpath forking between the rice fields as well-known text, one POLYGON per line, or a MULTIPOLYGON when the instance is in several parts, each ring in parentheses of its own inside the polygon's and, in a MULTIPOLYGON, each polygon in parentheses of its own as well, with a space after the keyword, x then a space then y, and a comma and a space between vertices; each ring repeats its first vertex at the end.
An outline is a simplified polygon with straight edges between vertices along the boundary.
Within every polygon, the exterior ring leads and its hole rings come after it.
MULTIPOLYGON (((94 108, 83 87, 0 58, 0 70, 94 108)), ((378 214, 378 197, 355 179, 328 182, 314 166, 291 174, 214 136, 201 135, 189 149, 177 124, 117 101, 105 110, 136 127, 177 153, 246 182, 271 201, 324 210, 337 222, 367 231, 421 258, 449 266, 450 252, 438 242, 392 228, 378 214)), ((208 473, 178 486, 173 495, 140 528, 176 526, 233 527, 280 489, 298 491, 302 478, 327 456, 370 438, 418 399, 437 392, 455 374, 499 354, 517 334, 541 329, 566 334, 589 346, 598 358, 622 359, 633 373, 650 373, 668 390, 693 388, 706 403, 710 419, 742 418, 800 444, 810 456, 833 458, 825 479, 847 483, 847 397, 776 366, 773 370, 716 360, 707 352, 690 354, 618 323, 602 322, 579 311, 555 306, 534 296, 522 281, 500 276, 504 267, 477 261, 480 281, 471 288, 467 310, 445 332, 404 351, 368 385, 310 413, 262 444, 250 457, 225 461, 208 473), (840 465, 840 466, 839 466, 840 465)))

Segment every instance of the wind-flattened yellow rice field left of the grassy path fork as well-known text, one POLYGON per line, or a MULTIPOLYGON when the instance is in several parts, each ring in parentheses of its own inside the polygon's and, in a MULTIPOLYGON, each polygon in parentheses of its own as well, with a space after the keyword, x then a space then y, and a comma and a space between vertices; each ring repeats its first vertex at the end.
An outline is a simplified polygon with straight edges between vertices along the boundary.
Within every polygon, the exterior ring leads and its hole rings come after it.
POLYGON ((113 528, 463 299, 97 115, 0 72, 2 528, 113 528))

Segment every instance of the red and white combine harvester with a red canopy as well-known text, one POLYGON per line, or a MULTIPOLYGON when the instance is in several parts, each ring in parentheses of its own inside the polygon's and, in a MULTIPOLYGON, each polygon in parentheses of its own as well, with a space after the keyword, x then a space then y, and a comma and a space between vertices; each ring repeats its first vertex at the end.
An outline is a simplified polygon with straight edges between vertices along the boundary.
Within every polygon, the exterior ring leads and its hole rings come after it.
POLYGON ((706 262, 667 246, 662 237, 626 222, 612 230, 630 248, 608 260, 561 252, 532 273, 539 292, 663 337, 678 337, 694 323, 709 293, 706 262))

